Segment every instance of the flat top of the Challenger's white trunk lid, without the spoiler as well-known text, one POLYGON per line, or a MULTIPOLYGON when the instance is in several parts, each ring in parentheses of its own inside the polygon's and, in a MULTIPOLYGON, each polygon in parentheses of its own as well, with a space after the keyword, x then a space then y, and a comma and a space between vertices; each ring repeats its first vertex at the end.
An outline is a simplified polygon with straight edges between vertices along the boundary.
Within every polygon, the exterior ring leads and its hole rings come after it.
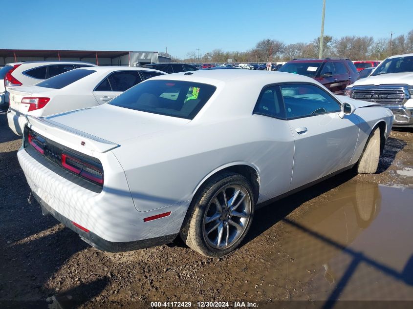
POLYGON ((103 104, 46 117, 57 124, 121 144, 122 141, 160 131, 171 131, 188 119, 157 115, 103 104))

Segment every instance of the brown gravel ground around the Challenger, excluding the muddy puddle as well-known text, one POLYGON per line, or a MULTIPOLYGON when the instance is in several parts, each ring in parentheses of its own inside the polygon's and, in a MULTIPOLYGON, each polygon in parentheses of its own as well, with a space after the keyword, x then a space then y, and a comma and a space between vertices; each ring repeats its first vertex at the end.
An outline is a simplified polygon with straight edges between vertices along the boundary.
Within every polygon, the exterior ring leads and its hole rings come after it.
MULTIPOLYGON (((224 258, 205 258, 179 239, 160 247, 107 253, 89 247, 51 216, 43 217, 36 202, 28 204, 29 187, 16 157, 21 140, 8 129, 5 116, 0 113, 3 305, 19 300, 43 301, 40 306, 45 306, 47 299, 53 308, 56 298, 65 308, 122 307, 128 301, 138 308, 144 303, 133 301, 294 299, 303 295, 305 279, 288 279, 292 258, 281 245, 288 237, 286 220, 303 218, 312 207, 328 202, 342 185, 412 186, 413 131, 392 131, 377 174, 345 172, 258 210, 242 246, 224 258), (269 269, 270 282, 265 276, 269 269), (76 302, 65 303, 65 299, 76 302)), ((308 272, 320 267, 314 265, 308 272)))

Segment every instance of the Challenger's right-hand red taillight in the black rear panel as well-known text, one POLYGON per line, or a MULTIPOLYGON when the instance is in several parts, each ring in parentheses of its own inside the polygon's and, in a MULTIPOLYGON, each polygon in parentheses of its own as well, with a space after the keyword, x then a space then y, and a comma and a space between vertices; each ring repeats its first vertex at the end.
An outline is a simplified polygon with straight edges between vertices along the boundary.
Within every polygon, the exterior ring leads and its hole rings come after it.
POLYGON ((62 166, 65 167, 65 169, 96 184, 103 184, 102 166, 85 162, 81 158, 75 158, 74 156, 70 156, 65 153, 62 154, 61 159, 62 166))

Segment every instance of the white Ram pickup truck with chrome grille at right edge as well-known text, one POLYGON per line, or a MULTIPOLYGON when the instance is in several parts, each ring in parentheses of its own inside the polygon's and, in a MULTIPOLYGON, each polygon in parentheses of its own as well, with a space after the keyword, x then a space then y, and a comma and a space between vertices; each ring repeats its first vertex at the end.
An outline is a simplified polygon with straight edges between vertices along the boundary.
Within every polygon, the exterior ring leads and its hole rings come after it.
POLYGON ((393 126, 413 127, 413 54, 387 58, 369 77, 349 85, 345 95, 388 107, 393 126))

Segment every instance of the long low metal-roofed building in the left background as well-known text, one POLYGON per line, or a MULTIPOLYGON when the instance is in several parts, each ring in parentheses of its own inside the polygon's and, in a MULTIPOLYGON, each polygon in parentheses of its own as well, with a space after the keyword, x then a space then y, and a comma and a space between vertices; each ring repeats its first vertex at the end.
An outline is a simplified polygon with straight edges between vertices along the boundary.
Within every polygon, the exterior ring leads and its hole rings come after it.
POLYGON ((137 66, 157 62, 171 62, 156 51, 92 51, 92 50, 43 50, 0 49, 0 65, 24 61, 85 61, 97 65, 137 66))

